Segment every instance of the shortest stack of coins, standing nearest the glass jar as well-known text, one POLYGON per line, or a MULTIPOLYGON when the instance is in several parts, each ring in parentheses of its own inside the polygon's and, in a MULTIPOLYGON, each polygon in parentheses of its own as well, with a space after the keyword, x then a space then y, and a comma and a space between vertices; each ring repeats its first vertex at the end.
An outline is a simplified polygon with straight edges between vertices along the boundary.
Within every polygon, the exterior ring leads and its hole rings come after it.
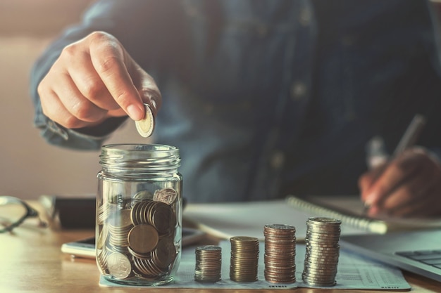
POLYGON ((196 268, 194 280, 198 282, 218 282, 221 280, 222 249, 215 245, 196 248, 196 268))

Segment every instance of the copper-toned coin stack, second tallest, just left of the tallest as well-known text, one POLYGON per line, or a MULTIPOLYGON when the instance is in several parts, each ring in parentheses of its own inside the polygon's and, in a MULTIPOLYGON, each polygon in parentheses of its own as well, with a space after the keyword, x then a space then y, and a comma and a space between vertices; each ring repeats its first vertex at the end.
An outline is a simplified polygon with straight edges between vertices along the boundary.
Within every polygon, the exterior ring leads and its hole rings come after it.
POLYGON ((294 226, 273 224, 263 228, 265 236, 265 280, 273 283, 296 281, 296 229, 294 226))

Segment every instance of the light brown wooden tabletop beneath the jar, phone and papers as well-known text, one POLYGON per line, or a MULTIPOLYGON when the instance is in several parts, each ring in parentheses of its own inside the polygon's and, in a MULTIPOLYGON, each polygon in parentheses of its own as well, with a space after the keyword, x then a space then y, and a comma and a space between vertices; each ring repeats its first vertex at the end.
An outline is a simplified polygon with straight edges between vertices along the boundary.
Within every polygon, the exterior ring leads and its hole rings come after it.
MULTIPOLYGON (((0 292, 141 292, 138 288, 99 287, 99 271, 94 261, 71 259, 60 247, 64 242, 94 235, 93 230, 51 230, 37 228, 36 221, 27 220, 13 233, 0 234, 0 292)), ((405 273, 412 285, 411 292, 441 292, 441 283, 418 275, 405 273)), ((149 292, 240 292, 248 290, 203 290, 149 288, 149 292)), ((286 292, 286 290, 253 290, 254 292, 286 292)), ((341 292, 337 289, 298 288, 296 293, 341 292)), ((373 290, 344 290, 344 292, 369 292, 373 290)), ((251 292, 251 290, 249 290, 251 292)), ((385 291, 380 291, 385 292, 385 291)), ((395 291, 396 292, 396 291, 395 291)))

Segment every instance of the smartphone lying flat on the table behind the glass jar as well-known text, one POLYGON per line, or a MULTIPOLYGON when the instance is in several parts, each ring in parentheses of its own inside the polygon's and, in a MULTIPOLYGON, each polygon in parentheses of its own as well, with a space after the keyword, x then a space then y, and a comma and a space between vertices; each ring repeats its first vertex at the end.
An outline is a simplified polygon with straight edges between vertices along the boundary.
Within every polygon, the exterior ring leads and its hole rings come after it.
MULTIPOLYGON (((182 228, 182 247, 193 245, 204 238, 205 233, 193 228, 182 228)), ((61 252, 72 257, 95 258, 95 237, 67 242, 61 245, 61 252)))

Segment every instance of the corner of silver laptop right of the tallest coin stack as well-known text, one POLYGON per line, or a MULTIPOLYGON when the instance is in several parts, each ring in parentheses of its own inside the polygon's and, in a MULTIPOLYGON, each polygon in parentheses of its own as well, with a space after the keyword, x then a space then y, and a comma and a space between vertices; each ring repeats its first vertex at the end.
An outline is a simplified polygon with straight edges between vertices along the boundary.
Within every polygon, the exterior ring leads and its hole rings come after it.
POLYGON ((441 282, 441 230, 342 235, 340 247, 441 282))

